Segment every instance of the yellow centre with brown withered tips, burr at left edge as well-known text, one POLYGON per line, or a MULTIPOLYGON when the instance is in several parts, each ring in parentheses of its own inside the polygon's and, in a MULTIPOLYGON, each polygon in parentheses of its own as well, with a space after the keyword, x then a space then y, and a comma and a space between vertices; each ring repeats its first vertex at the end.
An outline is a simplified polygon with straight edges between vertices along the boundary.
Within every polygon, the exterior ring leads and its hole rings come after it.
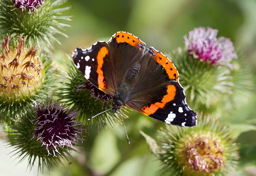
POLYGON ((10 48, 9 43, 7 36, 0 50, 0 95, 6 100, 24 99, 41 85, 41 62, 36 46, 26 49, 21 36, 15 48, 10 48))

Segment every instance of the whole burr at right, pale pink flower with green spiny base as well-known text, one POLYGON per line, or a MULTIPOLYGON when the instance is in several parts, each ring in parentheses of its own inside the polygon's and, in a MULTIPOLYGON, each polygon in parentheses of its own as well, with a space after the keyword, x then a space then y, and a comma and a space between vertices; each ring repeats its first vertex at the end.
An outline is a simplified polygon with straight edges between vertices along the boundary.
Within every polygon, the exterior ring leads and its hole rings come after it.
POLYGON ((214 112, 233 93, 230 62, 237 54, 230 39, 217 38, 217 33, 211 28, 195 28, 184 36, 185 48, 170 54, 187 101, 197 111, 214 112))

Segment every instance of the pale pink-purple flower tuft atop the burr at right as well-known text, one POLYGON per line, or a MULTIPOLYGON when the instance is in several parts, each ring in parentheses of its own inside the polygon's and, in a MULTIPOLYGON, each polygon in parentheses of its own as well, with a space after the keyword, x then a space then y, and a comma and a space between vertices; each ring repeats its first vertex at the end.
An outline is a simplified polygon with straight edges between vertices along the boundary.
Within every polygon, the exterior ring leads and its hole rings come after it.
POLYGON ((237 58, 233 43, 229 38, 217 38, 218 30, 203 27, 195 28, 189 32, 189 36, 184 35, 185 47, 190 55, 211 64, 226 63, 237 58))

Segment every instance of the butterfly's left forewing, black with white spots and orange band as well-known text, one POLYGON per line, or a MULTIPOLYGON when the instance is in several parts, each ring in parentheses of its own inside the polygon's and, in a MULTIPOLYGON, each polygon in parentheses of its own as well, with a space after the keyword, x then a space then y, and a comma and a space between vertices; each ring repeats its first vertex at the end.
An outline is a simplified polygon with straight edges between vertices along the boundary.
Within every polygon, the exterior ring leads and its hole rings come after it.
POLYGON ((104 65, 110 65, 110 55, 108 43, 103 41, 85 50, 77 48, 73 53, 73 61, 87 80, 101 91, 113 96, 114 83, 111 76, 113 70, 104 67, 104 65))

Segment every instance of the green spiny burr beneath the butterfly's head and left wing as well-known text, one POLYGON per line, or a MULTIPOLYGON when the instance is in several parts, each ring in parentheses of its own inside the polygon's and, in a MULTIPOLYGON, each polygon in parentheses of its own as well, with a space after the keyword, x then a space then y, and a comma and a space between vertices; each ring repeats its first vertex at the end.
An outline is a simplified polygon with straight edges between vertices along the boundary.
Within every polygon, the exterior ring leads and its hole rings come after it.
MULTIPOLYGON (((114 123, 122 123, 121 118, 117 113, 112 111, 105 111, 111 106, 112 97, 103 93, 95 86, 91 85, 86 78, 75 68, 72 58, 68 55, 67 62, 68 71, 63 71, 61 76, 61 87, 58 88, 57 96, 59 101, 64 102, 66 106, 79 111, 80 118, 84 121, 86 132, 89 133, 91 125, 94 124, 95 129, 98 131, 100 127, 107 128, 109 123, 113 126, 114 123), (92 120, 87 119, 99 114, 92 120)), ((126 108, 122 108, 122 111, 126 111, 126 108)), ((123 113, 124 117, 125 114, 123 113)))

